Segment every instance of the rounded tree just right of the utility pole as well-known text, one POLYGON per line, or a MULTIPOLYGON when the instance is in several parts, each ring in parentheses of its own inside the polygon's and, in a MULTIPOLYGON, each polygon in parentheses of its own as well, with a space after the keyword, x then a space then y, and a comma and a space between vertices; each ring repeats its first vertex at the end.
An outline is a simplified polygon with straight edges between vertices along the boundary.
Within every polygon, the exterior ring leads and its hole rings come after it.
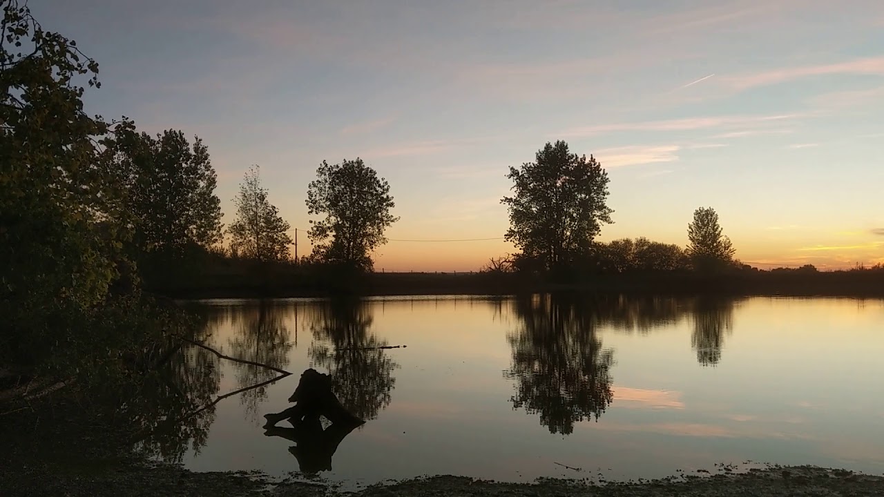
POLYGON ((395 206, 390 184, 362 159, 323 161, 307 190, 309 214, 324 216, 310 221, 314 255, 325 263, 371 271, 371 252, 386 242, 385 229, 399 220, 390 213, 395 206))

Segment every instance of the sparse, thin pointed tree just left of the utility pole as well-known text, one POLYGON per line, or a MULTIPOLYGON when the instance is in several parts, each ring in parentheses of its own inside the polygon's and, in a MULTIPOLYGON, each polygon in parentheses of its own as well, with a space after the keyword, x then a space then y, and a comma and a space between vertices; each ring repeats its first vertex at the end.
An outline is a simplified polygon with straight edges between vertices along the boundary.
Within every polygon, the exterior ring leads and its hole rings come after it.
POLYGON ((267 200, 267 188, 261 186, 257 165, 249 168, 240 184, 240 195, 233 199, 236 220, 227 229, 232 236, 231 249, 239 256, 259 261, 278 261, 289 257, 292 237, 289 224, 279 217, 279 210, 267 200))

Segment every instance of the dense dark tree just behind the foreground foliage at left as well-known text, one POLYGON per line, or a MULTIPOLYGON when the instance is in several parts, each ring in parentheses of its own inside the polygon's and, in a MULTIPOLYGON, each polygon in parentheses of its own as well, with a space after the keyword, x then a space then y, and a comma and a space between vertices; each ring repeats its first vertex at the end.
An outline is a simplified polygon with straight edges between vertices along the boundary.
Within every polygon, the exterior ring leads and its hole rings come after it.
POLYGON ((141 253, 182 258, 187 248, 208 250, 221 241, 217 174, 202 140, 195 137, 191 147, 180 131, 154 138, 120 127, 107 144, 141 253))

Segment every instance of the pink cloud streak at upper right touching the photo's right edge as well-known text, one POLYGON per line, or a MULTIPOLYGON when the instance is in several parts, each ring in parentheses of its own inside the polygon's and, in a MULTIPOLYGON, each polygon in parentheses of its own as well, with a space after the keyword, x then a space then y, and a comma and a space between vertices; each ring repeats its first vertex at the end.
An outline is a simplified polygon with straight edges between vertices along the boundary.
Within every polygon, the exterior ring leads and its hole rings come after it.
POLYGON ((762 73, 722 77, 720 80, 730 88, 745 90, 831 74, 884 75, 884 57, 865 57, 834 64, 787 67, 762 73))

